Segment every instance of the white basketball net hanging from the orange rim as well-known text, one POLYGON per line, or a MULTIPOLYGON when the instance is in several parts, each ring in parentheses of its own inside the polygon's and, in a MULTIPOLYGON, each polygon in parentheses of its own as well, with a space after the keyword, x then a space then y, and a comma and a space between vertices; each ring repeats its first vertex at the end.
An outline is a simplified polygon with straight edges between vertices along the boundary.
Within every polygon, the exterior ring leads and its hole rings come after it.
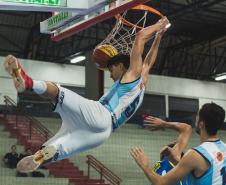
POLYGON ((126 14, 127 12, 123 13, 121 16, 116 16, 114 28, 98 46, 109 44, 117 49, 118 54, 130 55, 136 33, 141 30, 140 26, 145 27, 148 12, 145 11, 141 19, 133 25, 123 23, 122 20, 125 20, 126 14))

